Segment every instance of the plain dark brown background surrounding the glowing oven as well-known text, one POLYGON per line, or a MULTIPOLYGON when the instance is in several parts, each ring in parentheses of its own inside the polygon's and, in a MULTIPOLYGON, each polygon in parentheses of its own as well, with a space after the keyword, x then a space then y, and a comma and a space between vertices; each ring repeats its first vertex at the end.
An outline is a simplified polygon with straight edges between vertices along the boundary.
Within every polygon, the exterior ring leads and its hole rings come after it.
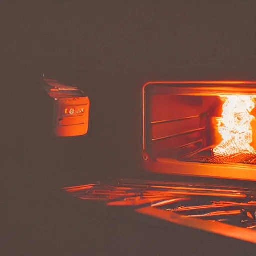
POLYGON ((16 2, 0 16, 2 255, 254 255, 61 191, 139 175, 145 82, 255 80, 254 0, 16 2), (43 74, 89 96, 86 136, 50 137, 43 74))

